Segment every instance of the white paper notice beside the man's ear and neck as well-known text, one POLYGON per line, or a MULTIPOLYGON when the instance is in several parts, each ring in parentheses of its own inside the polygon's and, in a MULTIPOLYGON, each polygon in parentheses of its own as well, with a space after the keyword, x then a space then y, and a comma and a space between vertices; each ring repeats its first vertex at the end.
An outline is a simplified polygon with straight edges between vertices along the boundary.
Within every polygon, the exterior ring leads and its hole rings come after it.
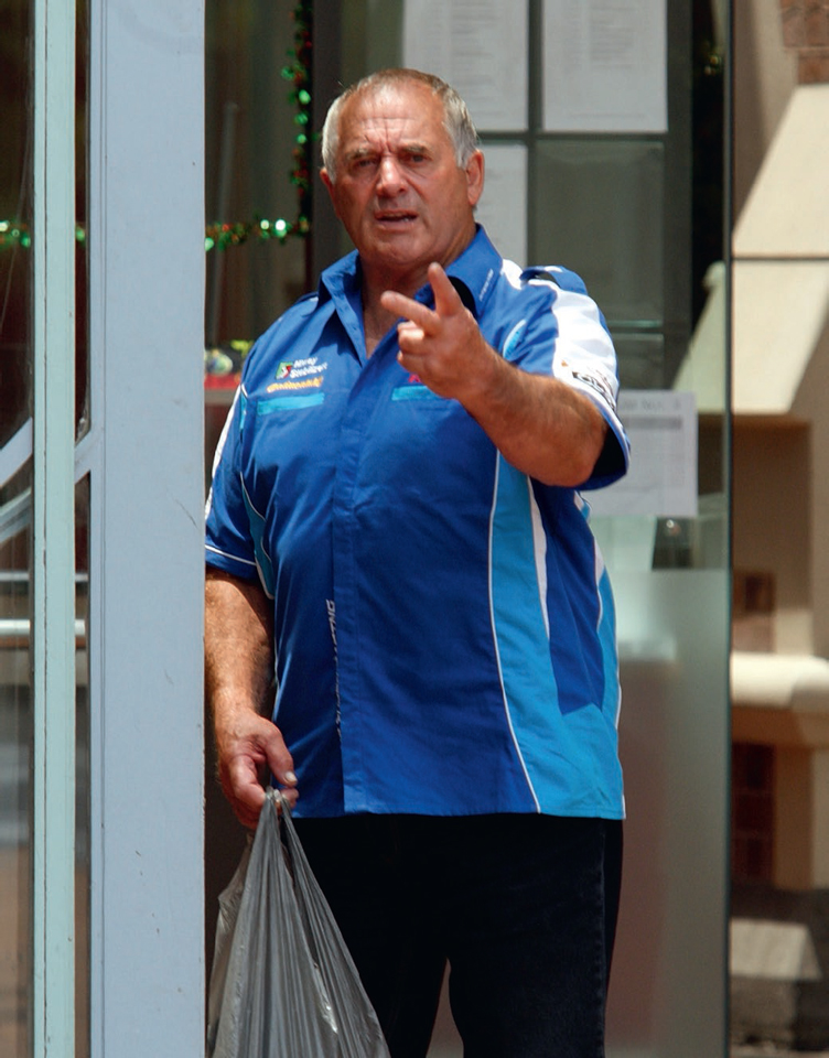
POLYGON ((476 219, 502 257, 527 264, 527 148, 488 143, 484 148, 484 193, 476 219))

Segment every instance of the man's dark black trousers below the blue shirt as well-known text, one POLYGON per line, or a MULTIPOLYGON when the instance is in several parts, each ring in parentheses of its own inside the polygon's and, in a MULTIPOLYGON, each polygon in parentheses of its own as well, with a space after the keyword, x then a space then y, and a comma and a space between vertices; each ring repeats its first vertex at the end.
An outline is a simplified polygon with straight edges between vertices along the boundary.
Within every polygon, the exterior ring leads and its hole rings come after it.
POLYGON ((392 1058, 423 1058, 449 961, 464 1058, 602 1058, 622 824, 297 820, 392 1058))

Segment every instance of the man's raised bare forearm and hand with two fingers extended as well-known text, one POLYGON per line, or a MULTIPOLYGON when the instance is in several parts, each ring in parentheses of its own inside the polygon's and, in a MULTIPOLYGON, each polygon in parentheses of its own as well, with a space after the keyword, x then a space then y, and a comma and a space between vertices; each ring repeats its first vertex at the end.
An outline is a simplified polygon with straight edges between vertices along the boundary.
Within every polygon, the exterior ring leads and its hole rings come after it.
POLYGON ((607 425, 586 397, 558 379, 530 375, 487 345, 439 264, 429 268, 434 310, 386 291, 381 303, 405 316, 400 363, 441 397, 459 400, 504 457, 547 485, 588 479, 607 425))

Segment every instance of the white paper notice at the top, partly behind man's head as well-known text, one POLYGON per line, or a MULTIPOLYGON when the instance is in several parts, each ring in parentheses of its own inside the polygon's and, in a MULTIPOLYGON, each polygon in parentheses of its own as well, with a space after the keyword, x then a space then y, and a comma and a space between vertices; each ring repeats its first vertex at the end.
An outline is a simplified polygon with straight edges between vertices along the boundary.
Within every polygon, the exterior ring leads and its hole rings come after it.
POLYGON ((526 0, 410 0, 403 63, 456 88, 478 129, 527 128, 526 0))

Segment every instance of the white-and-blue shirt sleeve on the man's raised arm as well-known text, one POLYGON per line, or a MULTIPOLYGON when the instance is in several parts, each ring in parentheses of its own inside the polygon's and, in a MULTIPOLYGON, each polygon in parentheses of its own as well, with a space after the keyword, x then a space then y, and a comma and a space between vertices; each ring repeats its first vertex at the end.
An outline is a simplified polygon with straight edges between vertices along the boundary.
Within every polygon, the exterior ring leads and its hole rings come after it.
POLYGON ((631 445, 618 418, 616 352, 604 316, 582 280, 568 269, 528 269, 521 278, 548 288, 550 301, 535 326, 527 327, 514 360, 525 370, 550 371, 596 406, 610 429, 593 473, 581 487, 610 485, 627 472, 631 445))

